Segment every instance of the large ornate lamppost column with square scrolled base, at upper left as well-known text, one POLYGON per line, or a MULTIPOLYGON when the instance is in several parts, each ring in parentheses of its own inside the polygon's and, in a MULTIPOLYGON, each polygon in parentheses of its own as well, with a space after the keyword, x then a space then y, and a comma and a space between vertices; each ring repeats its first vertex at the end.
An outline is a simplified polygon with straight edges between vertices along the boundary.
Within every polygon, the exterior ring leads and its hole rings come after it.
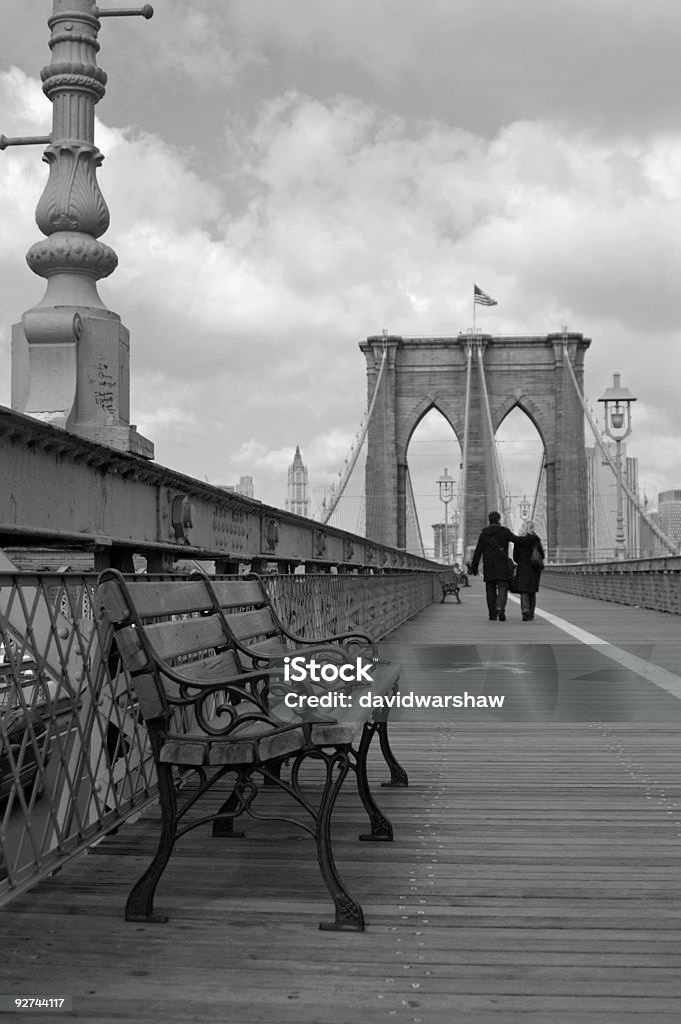
POLYGON ((52 0, 50 63, 43 92, 52 103, 48 138, 0 139, 0 148, 47 142, 49 176, 36 208, 45 236, 27 253, 45 294, 12 326, 12 408, 44 423, 123 452, 154 458, 154 445, 130 423, 130 338, 97 282, 118 264, 99 237, 109 209, 97 182, 102 156, 94 144, 94 108, 105 92, 97 67, 100 19, 154 13, 101 10, 95 0, 52 0))

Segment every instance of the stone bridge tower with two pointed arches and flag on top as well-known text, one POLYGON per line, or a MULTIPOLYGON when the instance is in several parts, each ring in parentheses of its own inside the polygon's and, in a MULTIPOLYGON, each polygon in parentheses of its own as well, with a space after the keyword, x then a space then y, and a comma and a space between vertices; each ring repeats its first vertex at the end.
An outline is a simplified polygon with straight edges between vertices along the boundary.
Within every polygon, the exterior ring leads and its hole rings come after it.
MULTIPOLYGON (((515 407, 531 420, 544 443, 548 548, 554 559, 579 559, 587 548, 587 463, 584 411, 576 393, 566 349, 580 389, 591 340, 581 334, 455 338, 370 337, 359 347, 373 395, 384 346, 387 365, 368 434, 367 536, 405 547, 407 452, 422 418, 436 409, 464 451, 467 352, 479 350, 493 434, 515 407)), ((484 385, 475 357, 470 377, 464 550, 474 544, 497 504, 484 385)))

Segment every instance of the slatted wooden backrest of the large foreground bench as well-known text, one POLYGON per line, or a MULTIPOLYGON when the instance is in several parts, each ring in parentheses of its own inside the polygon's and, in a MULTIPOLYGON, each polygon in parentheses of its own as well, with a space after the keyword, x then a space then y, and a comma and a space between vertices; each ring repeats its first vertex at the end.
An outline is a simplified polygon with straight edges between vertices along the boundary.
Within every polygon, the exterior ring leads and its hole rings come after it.
POLYGON ((258 654, 273 656, 286 649, 281 624, 257 577, 126 580, 117 569, 104 569, 98 586, 145 719, 167 718, 168 695, 179 691, 164 676, 163 666, 209 663, 219 654, 220 678, 229 679, 250 671, 258 654))

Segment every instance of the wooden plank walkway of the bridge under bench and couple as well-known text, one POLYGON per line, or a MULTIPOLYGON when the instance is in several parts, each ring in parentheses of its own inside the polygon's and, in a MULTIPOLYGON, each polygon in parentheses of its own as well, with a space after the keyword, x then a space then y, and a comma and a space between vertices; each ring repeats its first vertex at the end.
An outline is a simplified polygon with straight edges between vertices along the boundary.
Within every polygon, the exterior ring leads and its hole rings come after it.
MULTIPOLYGON (((488 623, 481 590, 391 639, 565 641, 517 606, 488 623)), ((540 603, 605 640, 657 643, 661 664, 679 637, 670 615, 549 591, 540 603)), ((330 904, 309 841, 261 823, 243 840, 186 837, 159 893, 170 923, 126 925, 153 846, 142 818, 3 912, 0 989, 72 994, 73 1017, 101 1024, 681 1019, 679 725, 442 719, 393 739, 412 779, 380 791, 395 842, 356 843, 349 792, 337 814, 364 935, 316 930, 330 904)))

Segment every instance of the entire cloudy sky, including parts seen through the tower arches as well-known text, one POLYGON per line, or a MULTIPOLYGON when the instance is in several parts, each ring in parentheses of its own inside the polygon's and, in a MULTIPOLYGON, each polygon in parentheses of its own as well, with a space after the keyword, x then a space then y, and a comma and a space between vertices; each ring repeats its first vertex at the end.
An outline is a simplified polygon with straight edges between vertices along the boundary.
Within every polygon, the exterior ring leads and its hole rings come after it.
MULTIPOLYGON (((591 337, 588 397, 622 373, 642 483, 681 486, 678 0, 154 6, 102 23, 96 143, 120 259, 99 291, 160 463, 283 504, 299 443, 318 490, 366 404, 357 343, 456 335, 475 281, 491 333, 591 337)), ((48 132, 51 0, 2 7, 0 131, 48 132)), ((46 174, 39 147, 0 154, 4 404, 46 174)), ((520 492, 537 437, 520 414, 504 431, 520 492)), ((431 522, 446 436, 429 420, 411 453, 431 522)))

